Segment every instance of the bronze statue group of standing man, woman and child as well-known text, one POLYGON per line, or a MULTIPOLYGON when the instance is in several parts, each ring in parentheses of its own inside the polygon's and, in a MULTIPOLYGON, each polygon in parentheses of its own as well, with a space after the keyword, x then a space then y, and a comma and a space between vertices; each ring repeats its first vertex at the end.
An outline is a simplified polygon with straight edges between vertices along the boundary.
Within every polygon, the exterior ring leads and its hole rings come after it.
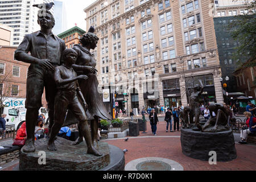
POLYGON ((79 138, 73 144, 79 144, 85 138, 87 153, 99 156, 98 119, 112 117, 97 89, 96 60, 90 53, 98 42, 94 28, 82 36, 81 45, 66 49, 64 41, 52 34, 55 19, 49 10, 39 10, 38 24, 40 31, 24 36, 15 51, 16 60, 30 63, 25 103, 27 140, 22 150, 35 151, 35 125, 45 89, 49 113, 48 150, 57 150, 54 140, 62 126, 77 123, 79 138))

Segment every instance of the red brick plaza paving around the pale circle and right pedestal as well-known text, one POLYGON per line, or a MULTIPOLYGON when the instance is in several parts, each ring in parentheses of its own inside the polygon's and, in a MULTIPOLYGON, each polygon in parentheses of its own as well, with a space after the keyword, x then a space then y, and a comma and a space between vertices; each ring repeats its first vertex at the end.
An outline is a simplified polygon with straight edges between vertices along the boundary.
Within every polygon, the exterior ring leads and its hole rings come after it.
POLYGON ((129 137, 127 142, 125 142, 123 138, 107 139, 104 141, 121 148, 121 150, 125 148, 128 150, 125 153, 125 165, 131 160, 156 157, 174 160, 183 166, 184 171, 256 170, 256 146, 236 142, 237 159, 230 162, 217 162, 216 165, 210 165, 208 161, 189 158, 182 153, 180 131, 174 133, 168 131, 167 133, 166 123, 163 121, 160 121, 157 126, 156 136, 152 135, 150 124, 147 122, 147 134, 140 132, 138 137, 129 137))

